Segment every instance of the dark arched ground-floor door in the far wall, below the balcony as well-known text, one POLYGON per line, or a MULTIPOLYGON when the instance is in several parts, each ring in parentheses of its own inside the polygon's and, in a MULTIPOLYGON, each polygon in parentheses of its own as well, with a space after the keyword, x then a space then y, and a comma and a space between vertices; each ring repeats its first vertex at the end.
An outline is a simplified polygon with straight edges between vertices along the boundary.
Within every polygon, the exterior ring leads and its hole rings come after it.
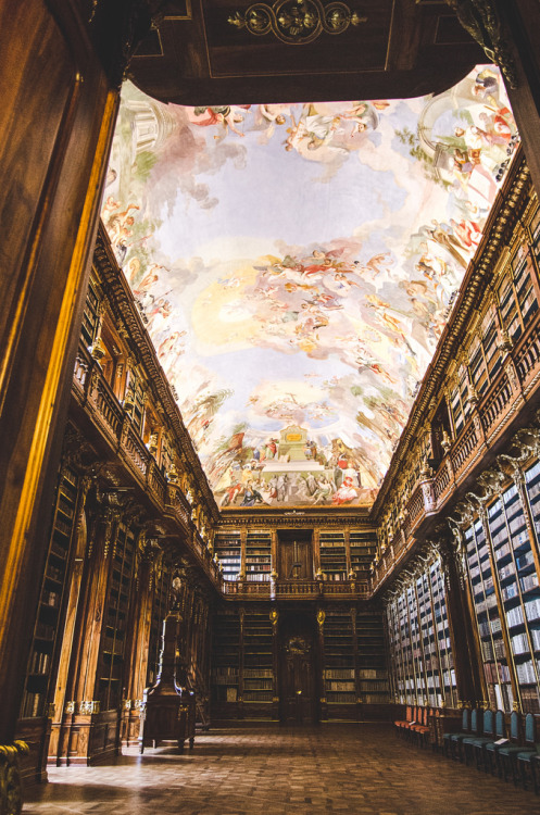
POLYGON ((281 613, 279 625, 279 719, 313 725, 319 720, 318 652, 315 615, 281 613))

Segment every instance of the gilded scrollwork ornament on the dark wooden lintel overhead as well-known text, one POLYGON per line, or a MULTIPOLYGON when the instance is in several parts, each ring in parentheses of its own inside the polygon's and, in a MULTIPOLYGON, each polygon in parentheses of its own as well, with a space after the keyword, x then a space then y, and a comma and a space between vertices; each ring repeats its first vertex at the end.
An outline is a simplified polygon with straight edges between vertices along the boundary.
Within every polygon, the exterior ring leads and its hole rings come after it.
POLYGON ((321 0, 277 0, 273 5, 254 3, 246 12, 236 11, 227 22, 259 37, 272 32, 281 42, 301 46, 313 42, 323 32, 342 34, 367 17, 339 0, 326 5, 321 0))

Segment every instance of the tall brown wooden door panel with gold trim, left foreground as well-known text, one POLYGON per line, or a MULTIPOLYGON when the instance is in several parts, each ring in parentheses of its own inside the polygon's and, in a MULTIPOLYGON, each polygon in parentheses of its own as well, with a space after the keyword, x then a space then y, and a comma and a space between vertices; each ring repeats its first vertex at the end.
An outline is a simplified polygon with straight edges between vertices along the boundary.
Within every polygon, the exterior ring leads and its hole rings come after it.
POLYGON ((13 738, 114 126, 75 0, 0 0, 0 742, 13 738))

